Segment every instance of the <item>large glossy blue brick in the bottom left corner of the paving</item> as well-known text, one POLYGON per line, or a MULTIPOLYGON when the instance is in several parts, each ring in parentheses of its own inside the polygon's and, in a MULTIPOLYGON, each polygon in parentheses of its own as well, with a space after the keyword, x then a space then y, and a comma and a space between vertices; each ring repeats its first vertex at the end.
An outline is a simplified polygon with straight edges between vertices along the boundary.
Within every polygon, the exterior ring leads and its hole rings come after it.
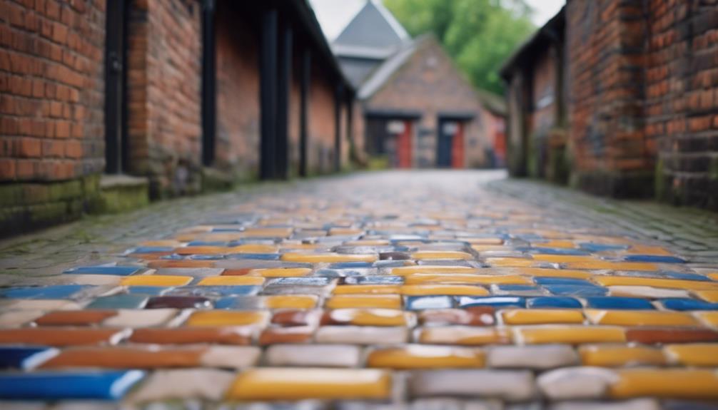
POLYGON ((118 400, 143 377, 139 370, 0 373, 0 399, 118 400))

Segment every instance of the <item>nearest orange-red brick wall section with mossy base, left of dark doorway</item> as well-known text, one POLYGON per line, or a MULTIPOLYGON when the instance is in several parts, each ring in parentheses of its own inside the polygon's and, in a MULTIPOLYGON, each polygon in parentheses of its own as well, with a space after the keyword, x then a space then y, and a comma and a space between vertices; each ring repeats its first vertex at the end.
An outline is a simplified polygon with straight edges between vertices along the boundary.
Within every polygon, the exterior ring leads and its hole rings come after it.
POLYGON ((0 227, 73 219, 103 157, 105 1, 0 2, 0 227))

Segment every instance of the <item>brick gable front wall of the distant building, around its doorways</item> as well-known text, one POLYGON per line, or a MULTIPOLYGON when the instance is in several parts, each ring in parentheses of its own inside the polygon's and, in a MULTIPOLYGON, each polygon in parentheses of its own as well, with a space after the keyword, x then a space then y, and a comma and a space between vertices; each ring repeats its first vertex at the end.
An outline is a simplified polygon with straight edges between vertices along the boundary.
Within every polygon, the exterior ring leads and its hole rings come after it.
POLYGON ((485 136, 478 124, 482 107, 472 86, 461 77, 451 59, 436 39, 419 40, 417 49, 404 66, 394 73, 366 105, 377 110, 418 110, 424 115, 419 122, 415 166, 434 166, 437 151, 437 115, 439 113, 473 113, 472 123, 465 128, 465 144, 472 149, 467 166, 485 163, 485 136))

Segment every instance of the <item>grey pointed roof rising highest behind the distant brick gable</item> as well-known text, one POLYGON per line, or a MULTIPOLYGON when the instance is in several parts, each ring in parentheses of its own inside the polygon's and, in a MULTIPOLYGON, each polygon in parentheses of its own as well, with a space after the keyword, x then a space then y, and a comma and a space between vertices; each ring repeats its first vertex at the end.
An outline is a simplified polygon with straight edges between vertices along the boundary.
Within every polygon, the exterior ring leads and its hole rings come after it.
POLYGON ((334 40, 337 54, 383 54, 400 47, 409 34, 380 1, 367 0, 347 27, 334 40))

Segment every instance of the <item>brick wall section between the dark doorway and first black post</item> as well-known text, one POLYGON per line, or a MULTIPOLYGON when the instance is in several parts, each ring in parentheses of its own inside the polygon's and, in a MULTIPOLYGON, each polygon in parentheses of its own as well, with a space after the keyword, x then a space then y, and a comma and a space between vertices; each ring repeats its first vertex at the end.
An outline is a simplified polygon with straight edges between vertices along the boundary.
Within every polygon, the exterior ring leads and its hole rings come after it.
POLYGON ((200 189, 200 13, 193 0, 131 5, 130 171, 155 198, 200 189))

